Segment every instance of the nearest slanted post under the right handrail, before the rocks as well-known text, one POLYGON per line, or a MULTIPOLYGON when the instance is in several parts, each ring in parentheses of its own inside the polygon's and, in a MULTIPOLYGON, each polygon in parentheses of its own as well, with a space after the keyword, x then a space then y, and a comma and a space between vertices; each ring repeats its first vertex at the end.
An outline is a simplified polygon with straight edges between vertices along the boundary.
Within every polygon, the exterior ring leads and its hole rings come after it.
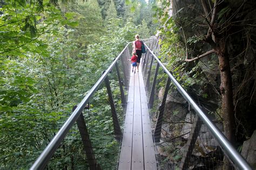
POLYGON ((190 161, 194 145, 196 144, 198 134, 201 129, 201 120, 196 115, 194 119, 193 128, 190 131, 190 137, 187 140, 186 147, 184 148, 183 157, 181 159, 180 169, 188 169, 188 162, 190 161))

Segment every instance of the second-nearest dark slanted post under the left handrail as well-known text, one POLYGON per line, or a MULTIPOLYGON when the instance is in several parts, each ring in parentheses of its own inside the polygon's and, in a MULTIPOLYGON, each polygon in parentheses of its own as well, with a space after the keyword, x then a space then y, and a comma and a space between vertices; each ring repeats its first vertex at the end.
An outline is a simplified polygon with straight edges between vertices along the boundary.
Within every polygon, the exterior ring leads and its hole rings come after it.
POLYGON ((112 119, 113 119, 113 125, 114 125, 114 134, 116 136, 116 139, 120 140, 122 136, 122 131, 119 125, 116 107, 114 106, 114 100, 113 100, 113 96, 110 88, 109 78, 106 76, 104 81, 106 84, 107 94, 109 95, 109 103, 111 107, 112 119))

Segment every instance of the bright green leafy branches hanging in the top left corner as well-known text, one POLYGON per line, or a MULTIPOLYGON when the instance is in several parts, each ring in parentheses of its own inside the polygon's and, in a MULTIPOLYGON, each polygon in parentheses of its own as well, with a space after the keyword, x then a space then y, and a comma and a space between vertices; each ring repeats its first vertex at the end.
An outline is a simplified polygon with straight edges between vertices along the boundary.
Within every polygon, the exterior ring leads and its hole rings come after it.
POLYGON ((27 51, 43 51, 45 44, 38 38, 51 29, 49 25, 52 23, 77 25, 70 20, 72 17, 63 18, 62 13, 48 1, 9 2, 2 6, 1 11, 0 54, 5 56, 26 56, 27 51))

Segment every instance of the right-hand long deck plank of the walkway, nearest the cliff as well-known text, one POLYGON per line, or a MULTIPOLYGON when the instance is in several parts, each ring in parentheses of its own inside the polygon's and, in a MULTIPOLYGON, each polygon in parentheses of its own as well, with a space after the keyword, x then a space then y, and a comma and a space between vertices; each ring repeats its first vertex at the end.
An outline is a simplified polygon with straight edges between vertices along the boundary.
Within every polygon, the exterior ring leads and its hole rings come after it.
POLYGON ((142 108, 142 124, 143 124, 143 150, 144 150, 144 166, 145 169, 157 169, 156 151, 154 148, 151 121, 149 115, 149 107, 147 105, 146 91, 143 81, 143 75, 139 73, 140 100, 142 108))

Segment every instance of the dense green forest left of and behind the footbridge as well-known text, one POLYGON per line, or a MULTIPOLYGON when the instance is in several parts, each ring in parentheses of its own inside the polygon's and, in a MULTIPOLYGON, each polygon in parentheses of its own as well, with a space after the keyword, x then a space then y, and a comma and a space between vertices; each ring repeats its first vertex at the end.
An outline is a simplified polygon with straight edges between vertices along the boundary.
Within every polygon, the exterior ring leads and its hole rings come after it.
MULTIPOLYGON (((1 169, 29 168, 127 42, 154 34, 151 3, 1 1, 1 169)), ((117 82, 111 86, 119 102, 117 82)), ((85 115, 91 133, 110 130, 104 140, 92 137, 104 169, 116 166, 111 151, 119 148, 105 91, 97 91, 85 115)), ((73 128, 48 168, 85 168, 79 139, 73 128)))

